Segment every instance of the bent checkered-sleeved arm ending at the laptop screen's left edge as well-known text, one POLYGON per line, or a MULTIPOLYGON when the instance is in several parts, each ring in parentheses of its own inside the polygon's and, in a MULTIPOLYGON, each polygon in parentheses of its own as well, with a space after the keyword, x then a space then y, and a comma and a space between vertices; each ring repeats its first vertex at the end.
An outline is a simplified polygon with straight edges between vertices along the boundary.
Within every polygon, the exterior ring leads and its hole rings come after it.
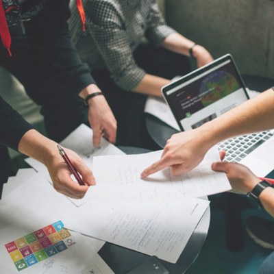
POLYGON ((96 0, 87 1, 85 10, 90 39, 115 84, 123 90, 162 97, 161 88, 170 80, 150 75, 136 64, 122 12, 112 3, 96 0))

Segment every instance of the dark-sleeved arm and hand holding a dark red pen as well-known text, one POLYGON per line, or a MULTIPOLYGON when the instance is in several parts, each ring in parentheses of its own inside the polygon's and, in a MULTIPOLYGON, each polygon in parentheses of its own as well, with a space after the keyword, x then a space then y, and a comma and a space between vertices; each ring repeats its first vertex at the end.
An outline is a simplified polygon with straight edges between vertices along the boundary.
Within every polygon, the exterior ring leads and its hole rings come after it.
POLYGON ((58 152, 57 143, 37 132, 2 97, 0 97, 0 129, 2 145, 18 150, 47 166, 53 187, 58 192, 71 198, 81 199, 88 186, 96 184, 92 171, 88 169, 82 158, 70 149, 66 149, 73 166, 82 175, 85 185, 79 186, 74 182, 71 179, 71 171, 58 152))

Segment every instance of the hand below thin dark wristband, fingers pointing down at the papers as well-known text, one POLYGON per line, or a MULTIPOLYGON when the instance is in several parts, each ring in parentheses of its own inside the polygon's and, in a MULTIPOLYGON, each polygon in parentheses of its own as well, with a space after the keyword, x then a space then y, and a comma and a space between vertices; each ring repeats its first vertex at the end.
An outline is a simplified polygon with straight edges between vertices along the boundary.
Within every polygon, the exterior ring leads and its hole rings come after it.
POLYGON ((88 100, 88 121, 93 130, 93 145, 99 147, 101 136, 109 142, 116 142, 117 123, 104 96, 88 100))

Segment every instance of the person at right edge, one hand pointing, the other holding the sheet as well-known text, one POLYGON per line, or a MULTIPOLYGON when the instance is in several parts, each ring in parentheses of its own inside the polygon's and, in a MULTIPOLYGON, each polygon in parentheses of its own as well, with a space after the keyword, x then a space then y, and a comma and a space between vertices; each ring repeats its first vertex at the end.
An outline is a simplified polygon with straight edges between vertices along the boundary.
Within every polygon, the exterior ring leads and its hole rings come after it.
MULTIPOLYGON (((221 140, 272 129, 274 127, 273 105, 274 87, 197 129, 174 134, 166 142, 162 158, 142 171, 141 177, 145 178, 167 166, 171 166, 173 175, 186 173, 195 168, 203 160, 208 149, 221 140)), ((223 160, 223 158, 224 151, 221 151, 221 159, 223 160)), ((238 163, 214 162, 212 163, 212 170, 225 172, 232 185, 232 190, 243 195, 247 195, 262 181, 247 166, 238 163)), ((274 216, 274 188, 266 186, 261 190, 258 201, 266 212, 274 216)), ((247 225, 249 225, 247 231, 249 230, 249 234, 253 234, 252 238, 262 237, 258 239, 261 244, 268 244, 268 247, 273 247, 273 221, 251 217, 247 225)), ((260 274, 273 273, 273 258, 274 252, 260 266, 260 274)))

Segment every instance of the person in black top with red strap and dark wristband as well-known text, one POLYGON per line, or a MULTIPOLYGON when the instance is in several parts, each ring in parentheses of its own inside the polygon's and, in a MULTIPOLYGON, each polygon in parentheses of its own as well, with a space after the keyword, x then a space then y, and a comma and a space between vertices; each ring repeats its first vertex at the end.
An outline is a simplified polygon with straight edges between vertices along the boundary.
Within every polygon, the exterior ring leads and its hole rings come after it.
MULTIPOLYGON (((81 0, 77 7, 84 27, 81 0)), ((41 106, 49 138, 60 142, 86 123, 92 127, 90 141, 95 147, 101 136, 114 143, 116 119, 71 42, 70 14, 69 0, 0 0, 0 65, 41 106)), ((6 147, 0 151, 0 162, 10 161, 6 147)), ((12 169, 0 169, 1 174, 6 173, 0 178, 5 182, 12 169)))

